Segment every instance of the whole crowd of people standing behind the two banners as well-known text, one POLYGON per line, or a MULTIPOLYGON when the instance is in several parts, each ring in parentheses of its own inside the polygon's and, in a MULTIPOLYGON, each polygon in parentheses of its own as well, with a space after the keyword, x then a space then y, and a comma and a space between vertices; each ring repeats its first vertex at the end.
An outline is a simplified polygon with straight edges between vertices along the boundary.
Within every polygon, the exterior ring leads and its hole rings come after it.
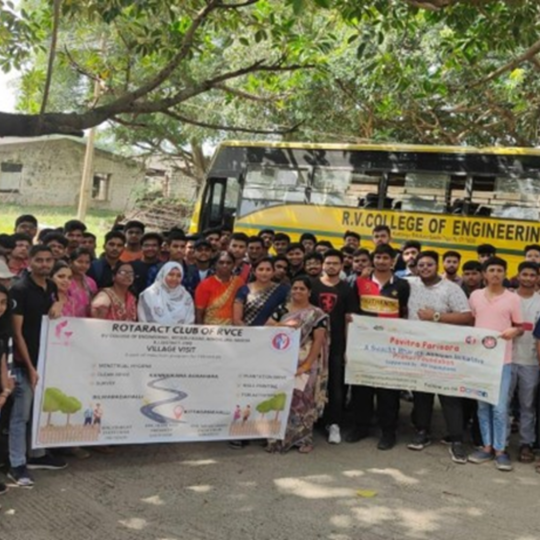
MULTIPOLYGON (((0 407, 9 414, 9 472, 12 482, 31 487, 31 469, 62 469, 62 456, 27 446, 42 316, 149 321, 163 325, 287 325, 298 328, 301 346, 296 385, 283 441, 266 450, 313 450, 316 422, 339 444, 346 405, 354 426, 347 442, 369 436, 374 418, 377 444, 396 444, 400 390, 345 385, 347 327, 352 314, 407 318, 434 324, 474 325, 507 340, 500 400, 496 406, 440 395, 451 459, 456 463, 494 460, 511 470, 507 453, 509 411, 519 414, 519 460, 532 463, 537 443, 540 368, 540 246, 528 246, 517 276, 493 246, 478 247, 478 260, 461 266, 460 253, 442 257, 422 251, 420 242, 392 246, 385 225, 360 247, 360 235, 346 231, 342 245, 304 233, 292 242, 285 233, 212 229, 186 235, 179 228, 146 232, 140 221, 114 227, 96 256, 96 237, 84 223, 39 231, 32 215, 16 220, 15 233, 0 235, 0 407), (376 400, 375 400, 376 398, 376 400), (375 410, 376 401, 376 410, 375 410), (9 403, 11 402, 11 403, 9 403), (518 411, 518 412, 517 412, 518 411), (472 424, 476 449, 468 454, 465 434, 472 424)), ((436 331, 436 330, 435 330, 436 331)), ((76 362, 76 359, 74 359, 76 362)), ((414 392, 415 434, 407 445, 431 443, 434 395, 414 392)), ((242 448, 242 441, 231 441, 242 448)), ((83 449, 69 449, 79 457, 83 449)), ((540 471, 540 469, 537 468, 540 471)), ((0 491, 5 490, 0 485, 0 491)))

